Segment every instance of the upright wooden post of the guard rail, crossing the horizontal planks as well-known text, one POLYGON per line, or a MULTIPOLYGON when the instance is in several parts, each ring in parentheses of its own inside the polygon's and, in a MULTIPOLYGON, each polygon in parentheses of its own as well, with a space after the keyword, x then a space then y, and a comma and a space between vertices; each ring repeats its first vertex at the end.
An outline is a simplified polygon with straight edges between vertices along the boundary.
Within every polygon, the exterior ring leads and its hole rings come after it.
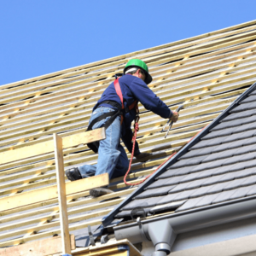
POLYGON ((67 198, 64 176, 64 160, 62 152, 62 138, 55 133, 53 134, 53 138, 55 144, 55 166, 61 224, 62 253, 71 254, 70 237, 68 230, 67 198))

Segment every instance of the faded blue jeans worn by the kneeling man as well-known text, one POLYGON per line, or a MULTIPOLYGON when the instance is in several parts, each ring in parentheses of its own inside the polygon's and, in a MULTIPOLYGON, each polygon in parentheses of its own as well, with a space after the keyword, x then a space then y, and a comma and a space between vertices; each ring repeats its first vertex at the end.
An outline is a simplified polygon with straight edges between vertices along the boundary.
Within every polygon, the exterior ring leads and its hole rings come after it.
MULTIPOLYGON (((90 122, 103 113, 114 111, 112 108, 100 107, 91 114, 90 122)), ((110 117, 102 119, 92 126, 92 129, 102 127, 110 117)), ((89 122, 89 123, 90 123, 89 122)), ((79 166, 82 177, 90 177, 108 172, 109 178, 124 176, 128 170, 129 160, 125 149, 120 144, 121 117, 114 119, 113 123, 106 130, 106 139, 100 141, 98 148, 98 162, 96 165, 79 166)))

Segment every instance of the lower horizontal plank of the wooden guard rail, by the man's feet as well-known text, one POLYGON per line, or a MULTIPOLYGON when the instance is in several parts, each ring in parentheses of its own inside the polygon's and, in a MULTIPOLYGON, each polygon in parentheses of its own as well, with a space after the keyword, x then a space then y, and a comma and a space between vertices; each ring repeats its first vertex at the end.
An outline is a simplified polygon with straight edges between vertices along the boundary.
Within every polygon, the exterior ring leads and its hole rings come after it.
MULTIPOLYGON (((78 193, 80 191, 89 190, 97 187, 107 186, 109 183, 108 173, 87 177, 70 183, 66 183, 67 195, 78 193)), ((57 198, 57 186, 49 186, 44 189, 35 189, 31 192, 24 192, 20 195, 3 197, 0 199, 0 212, 33 204, 39 201, 48 201, 57 198), (29 203, 27 201, 29 198, 29 203)))

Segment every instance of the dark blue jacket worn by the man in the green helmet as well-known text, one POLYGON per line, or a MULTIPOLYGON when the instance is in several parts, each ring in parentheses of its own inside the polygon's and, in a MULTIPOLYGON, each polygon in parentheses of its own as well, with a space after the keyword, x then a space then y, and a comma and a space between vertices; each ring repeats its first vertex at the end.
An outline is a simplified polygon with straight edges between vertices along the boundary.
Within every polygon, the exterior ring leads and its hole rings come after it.
MULTIPOLYGON (((151 110, 152 112, 160 115, 160 117, 167 119, 172 116, 172 111, 166 106, 164 102, 160 100, 158 96, 150 90, 147 84, 136 76, 131 74, 126 74, 125 76, 119 78, 120 88, 122 90, 124 105, 125 108, 129 107, 132 102, 138 101, 143 104, 143 106, 151 110)), ((113 108, 113 106, 108 105, 105 101, 114 101, 118 102, 120 106, 122 103, 119 96, 117 95, 113 83, 108 86, 108 88, 103 92, 102 97, 97 102, 96 106, 93 108, 96 109, 98 106, 104 106, 108 108, 113 108)), ((132 143, 132 131, 131 131, 131 122, 135 119, 136 111, 131 109, 130 113, 125 113, 124 121, 122 124, 121 138, 125 143, 126 148, 131 152, 132 143)), ((138 145, 135 146, 135 155, 139 154, 138 145)))

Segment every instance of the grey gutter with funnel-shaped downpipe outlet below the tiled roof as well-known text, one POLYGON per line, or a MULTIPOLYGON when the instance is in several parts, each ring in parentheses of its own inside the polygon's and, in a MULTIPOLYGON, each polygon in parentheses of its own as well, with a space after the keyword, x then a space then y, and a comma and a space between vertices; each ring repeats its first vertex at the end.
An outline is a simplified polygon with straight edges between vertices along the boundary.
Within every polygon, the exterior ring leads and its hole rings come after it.
POLYGON ((157 218, 137 218, 137 222, 116 226, 113 230, 117 240, 125 238, 131 243, 152 241, 155 248, 152 256, 166 256, 171 253, 177 234, 255 217, 255 205, 256 195, 253 195, 157 218))

